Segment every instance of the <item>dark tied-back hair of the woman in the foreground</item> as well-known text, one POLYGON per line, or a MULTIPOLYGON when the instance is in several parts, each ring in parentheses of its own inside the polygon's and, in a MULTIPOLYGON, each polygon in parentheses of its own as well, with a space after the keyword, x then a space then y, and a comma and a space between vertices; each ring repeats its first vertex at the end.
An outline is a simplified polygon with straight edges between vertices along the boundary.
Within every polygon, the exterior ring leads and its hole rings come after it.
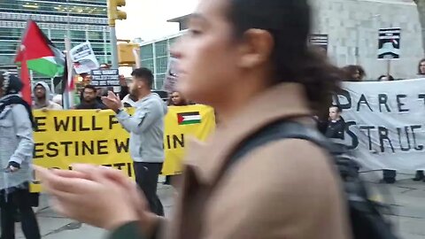
POLYGON ((237 38, 251 28, 274 38, 274 84, 298 82, 305 87, 310 107, 327 112, 332 93, 339 90, 342 72, 323 54, 307 46, 311 8, 307 0, 229 0, 228 18, 237 38))

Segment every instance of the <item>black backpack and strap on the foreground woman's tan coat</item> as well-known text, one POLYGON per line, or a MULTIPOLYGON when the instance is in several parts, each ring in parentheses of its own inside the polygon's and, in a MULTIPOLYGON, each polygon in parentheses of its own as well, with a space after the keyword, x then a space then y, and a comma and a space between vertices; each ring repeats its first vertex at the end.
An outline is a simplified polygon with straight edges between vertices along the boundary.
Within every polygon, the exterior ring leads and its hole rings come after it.
POLYGON ((397 239, 390 223, 383 218, 382 206, 368 199, 366 185, 359 179, 358 165, 352 160, 344 146, 331 143, 313 128, 291 121, 277 121, 259 129, 237 147, 230 156, 223 173, 252 150, 282 139, 302 139, 328 150, 344 181, 344 193, 352 220, 353 238, 397 239))

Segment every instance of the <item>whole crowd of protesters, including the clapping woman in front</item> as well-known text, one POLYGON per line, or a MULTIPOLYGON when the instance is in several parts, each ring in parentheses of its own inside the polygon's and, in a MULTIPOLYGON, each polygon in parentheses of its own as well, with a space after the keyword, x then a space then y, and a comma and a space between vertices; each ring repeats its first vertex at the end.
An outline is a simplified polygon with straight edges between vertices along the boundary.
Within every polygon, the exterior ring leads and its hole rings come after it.
MULTIPOLYGON (((85 86, 75 107, 115 113, 130 135, 135 181, 100 166, 75 165, 73 171, 35 166, 53 207, 109 230, 111 239, 353 238, 343 181, 326 149, 282 139, 228 164, 243 142, 277 121, 318 127, 328 138, 344 139, 341 108, 328 105, 341 80, 362 81, 366 73, 361 66, 332 66, 306 46, 311 12, 306 0, 200 1, 189 32, 171 52, 179 61, 179 82, 168 105, 188 105, 187 99, 211 105, 220 112, 220 126, 206 143, 190 143, 171 220, 157 194, 167 105, 152 93, 147 68, 135 69, 129 85, 120 81, 118 95, 85 86), (313 117, 323 112, 325 120, 313 117)), ((419 71, 425 73, 424 60, 419 71)), ((379 79, 393 80, 388 74, 379 79)), ((2 239, 14 238, 16 210, 27 239, 41 238, 28 189, 31 108, 61 109, 50 100, 46 84, 35 84, 32 107, 19 97, 21 89, 19 78, 0 74, 2 239)))

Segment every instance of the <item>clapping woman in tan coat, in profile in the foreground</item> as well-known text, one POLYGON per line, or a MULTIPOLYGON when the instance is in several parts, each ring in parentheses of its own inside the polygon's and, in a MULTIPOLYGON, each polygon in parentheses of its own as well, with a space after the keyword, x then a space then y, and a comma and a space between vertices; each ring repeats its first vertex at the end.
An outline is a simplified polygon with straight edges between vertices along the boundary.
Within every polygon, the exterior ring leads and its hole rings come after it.
POLYGON ((328 110, 338 70, 307 49, 310 21, 306 0, 201 0, 172 51, 178 90, 222 122, 207 143, 190 144, 174 218, 148 212, 132 181, 97 166, 38 169, 58 212, 114 239, 351 238, 339 177, 315 144, 268 143, 225 166, 261 127, 314 127, 313 113, 328 110))

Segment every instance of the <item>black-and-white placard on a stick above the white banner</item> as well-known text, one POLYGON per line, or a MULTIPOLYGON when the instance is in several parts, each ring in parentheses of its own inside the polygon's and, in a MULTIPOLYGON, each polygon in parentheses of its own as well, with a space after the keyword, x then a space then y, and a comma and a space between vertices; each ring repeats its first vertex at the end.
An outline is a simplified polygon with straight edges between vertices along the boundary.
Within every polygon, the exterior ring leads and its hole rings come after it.
POLYGON ((379 29, 378 59, 400 58, 400 28, 379 29))

